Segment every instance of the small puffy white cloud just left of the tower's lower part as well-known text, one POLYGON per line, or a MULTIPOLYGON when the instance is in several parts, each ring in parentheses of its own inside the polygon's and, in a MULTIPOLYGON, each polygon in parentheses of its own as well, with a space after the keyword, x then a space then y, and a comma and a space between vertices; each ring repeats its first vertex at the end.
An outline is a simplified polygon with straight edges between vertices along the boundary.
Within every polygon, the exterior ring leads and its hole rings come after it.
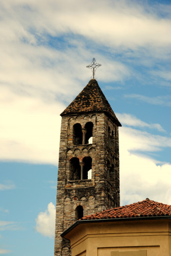
POLYGON ((43 236, 53 237, 55 233, 55 205, 49 203, 44 212, 36 218, 36 230, 43 236))

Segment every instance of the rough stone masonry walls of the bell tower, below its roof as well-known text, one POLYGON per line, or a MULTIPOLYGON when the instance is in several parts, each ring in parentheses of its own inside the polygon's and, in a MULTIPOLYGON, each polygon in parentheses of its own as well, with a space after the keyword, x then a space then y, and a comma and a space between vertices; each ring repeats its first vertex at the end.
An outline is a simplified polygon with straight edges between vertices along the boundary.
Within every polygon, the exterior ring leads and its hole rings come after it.
POLYGON ((60 234, 76 221, 76 207, 84 216, 120 205, 118 126, 105 113, 62 116, 55 228, 55 256, 69 256, 70 243, 60 234), (74 145, 73 125, 93 123, 92 144, 74 145), (109 128, 110 127, 110 128, 109 128), (110 132, 109 132, 110 131, 110 132), (91 179, 70 180, 70 159, 92 158, 91 179), (111 171, 112 170, 112 171, 111 171), (110 173, 110 176, 109 176, 110 173))

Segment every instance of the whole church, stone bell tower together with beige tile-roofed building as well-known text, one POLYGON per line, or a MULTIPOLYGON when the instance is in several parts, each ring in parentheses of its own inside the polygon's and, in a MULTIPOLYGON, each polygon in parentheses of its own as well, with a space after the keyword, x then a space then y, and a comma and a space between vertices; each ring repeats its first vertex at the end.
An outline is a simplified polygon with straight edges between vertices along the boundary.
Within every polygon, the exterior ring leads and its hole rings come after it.
POLYGON ((171 205, 120 206, 121 123, 94 78, 61 116, 54 256, 171 256, 171 205))

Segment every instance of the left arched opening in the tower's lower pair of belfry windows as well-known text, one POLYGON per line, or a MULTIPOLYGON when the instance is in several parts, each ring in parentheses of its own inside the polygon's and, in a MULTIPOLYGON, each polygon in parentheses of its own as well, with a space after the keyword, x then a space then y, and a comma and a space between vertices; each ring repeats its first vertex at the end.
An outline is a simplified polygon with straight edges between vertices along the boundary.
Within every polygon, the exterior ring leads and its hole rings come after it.
POLYGON ((80 160, 77 157, 70 159, 70 180, 80 180, 81 179, 81 166, 80 160))

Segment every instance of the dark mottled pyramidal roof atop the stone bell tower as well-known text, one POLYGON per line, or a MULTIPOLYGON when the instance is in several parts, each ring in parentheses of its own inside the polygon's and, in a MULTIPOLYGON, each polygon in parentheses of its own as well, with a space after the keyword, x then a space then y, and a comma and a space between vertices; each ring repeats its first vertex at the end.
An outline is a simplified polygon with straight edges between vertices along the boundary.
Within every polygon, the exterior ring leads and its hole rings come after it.
POLYGON ((115 119, 118 126, 121 126, 95 79, 89 81, 76 99, 65 108, 61 116, 88 112, 105 112, 115 119))

